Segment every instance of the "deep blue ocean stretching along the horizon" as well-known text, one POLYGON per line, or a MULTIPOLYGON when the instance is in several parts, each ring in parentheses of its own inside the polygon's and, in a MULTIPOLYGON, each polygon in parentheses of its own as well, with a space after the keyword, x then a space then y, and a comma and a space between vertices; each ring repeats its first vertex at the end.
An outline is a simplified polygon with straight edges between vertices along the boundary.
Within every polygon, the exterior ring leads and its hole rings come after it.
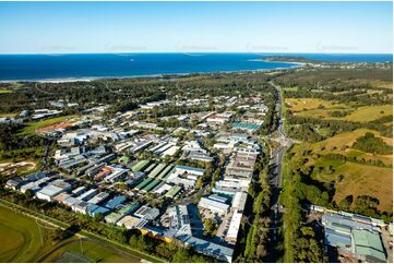
MULTIPOLYGON (((278 53, 0 55, 0 81, 81 80, 288 69, 295 63, 256 61, 278 53)), ((393 61, 392 55, 284 53, 349 62, 393 61)))

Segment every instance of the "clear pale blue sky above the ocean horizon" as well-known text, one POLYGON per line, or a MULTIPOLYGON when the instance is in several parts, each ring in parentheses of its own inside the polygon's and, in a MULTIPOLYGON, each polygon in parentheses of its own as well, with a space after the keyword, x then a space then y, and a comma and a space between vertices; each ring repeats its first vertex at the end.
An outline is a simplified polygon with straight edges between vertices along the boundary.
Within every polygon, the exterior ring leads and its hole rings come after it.
POLYGON ((392 2, 0 2, 0 53, 392 53, 392 2))

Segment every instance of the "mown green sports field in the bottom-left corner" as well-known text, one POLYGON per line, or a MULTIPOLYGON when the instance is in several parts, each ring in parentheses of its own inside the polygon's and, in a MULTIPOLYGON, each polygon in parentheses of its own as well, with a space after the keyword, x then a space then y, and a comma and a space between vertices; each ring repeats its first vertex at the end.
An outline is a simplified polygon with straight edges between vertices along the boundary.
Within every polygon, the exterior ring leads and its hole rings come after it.
POLYGON ((56 262, 65 252, 71 255, 82 254, 94 262, 140 262, 139 257, 122 256, 89 241, 83 241, 82 249, 79 241, 67 244, 69 240, 74 240, 75 236, 53 245, 45 239, 46 228, 38 228, 33 218, 0 206, 0 262, 36 262, 57 245, 60 248, 45 259, 45 262, 56 262), (44 236, 44 247, 40 235, 44 236), (64 247, 61 247, 62 244, 64 247))

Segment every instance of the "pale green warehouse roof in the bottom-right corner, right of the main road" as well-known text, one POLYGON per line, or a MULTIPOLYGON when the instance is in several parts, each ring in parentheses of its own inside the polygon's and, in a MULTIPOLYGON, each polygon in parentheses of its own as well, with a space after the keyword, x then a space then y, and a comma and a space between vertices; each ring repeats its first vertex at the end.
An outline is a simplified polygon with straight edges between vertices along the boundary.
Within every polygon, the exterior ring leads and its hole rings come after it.
POLYGON ((358 229, 354 229, 351 233, 356 245, 356 253, 372 256, 381 262, 386 261, 379 233, 358 229))

